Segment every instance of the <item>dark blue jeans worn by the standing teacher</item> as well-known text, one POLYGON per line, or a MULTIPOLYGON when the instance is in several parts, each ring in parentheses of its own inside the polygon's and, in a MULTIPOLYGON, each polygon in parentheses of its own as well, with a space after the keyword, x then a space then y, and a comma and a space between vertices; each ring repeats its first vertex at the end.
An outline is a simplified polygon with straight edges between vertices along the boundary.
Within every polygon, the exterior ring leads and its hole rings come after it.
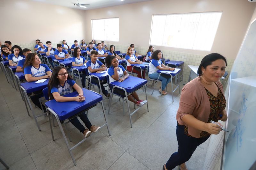
POLYGON ((175 168, 175 166, 181 165, 187 162, 192 154, 195 152, 196 147, 204 143, 209 137, 196 138, 189 137, 184 134, 184 126, 177 123, 176 136, 179 144, 178 152, 174 152, 165 166, 168 170, 175 168))

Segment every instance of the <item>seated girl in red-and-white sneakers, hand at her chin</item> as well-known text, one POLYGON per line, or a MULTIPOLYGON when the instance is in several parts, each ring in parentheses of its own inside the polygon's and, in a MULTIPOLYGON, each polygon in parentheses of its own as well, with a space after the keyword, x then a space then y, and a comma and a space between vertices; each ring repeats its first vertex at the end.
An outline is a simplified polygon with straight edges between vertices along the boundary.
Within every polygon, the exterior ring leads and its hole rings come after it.
MULTIPOLYGON (((126 78, 129 77, 129 74, 124 69, 124 67, 121 65, 118 65, 119 63, 118 63, 118 59, 116 56, 108 55, 106 57, 106 63, 107 63, 107 66, 109 67, 109 69, 108 69, 109 83, 112 83, 114 81, 123 82, 126 78)), ((112 91, 112 89, 113 89, 112 85, 110 85, 110 89, 112 91)), ((121 89, 115 89, 115 93, 118 93, 121 96, 125 96, 124 90, 121 90, 121 89)), ((128 100, 130 100, 137 106, 142 106, 143 104, 147 103, 147 100, 144 100, 144 101, 140 100, 140 98, 136 92, 133 92, 132 94, 130 94, 127 97, 128 97, 128 100)))

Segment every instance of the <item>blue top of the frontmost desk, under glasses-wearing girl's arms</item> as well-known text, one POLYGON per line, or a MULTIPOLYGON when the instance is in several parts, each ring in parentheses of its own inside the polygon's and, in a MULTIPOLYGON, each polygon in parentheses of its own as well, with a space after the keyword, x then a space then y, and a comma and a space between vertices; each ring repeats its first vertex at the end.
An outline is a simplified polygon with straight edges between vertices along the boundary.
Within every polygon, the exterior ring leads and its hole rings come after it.
MULTIPOLYGON (((84 110, 86 108, 91 107, 102 100, 102 96, 96 92, 92 92, 85 88, 82 88, 85 100, 83 102, 77 101, 67 101, 67 102, 57 102, 56 100, 50 100, 45 103, 47 107, 50 107, 59 117, 59 119, 65 120, 69 117, 72 117, 84 110)), ((65 97, 75 97, 77 96, 77 92, 72 92, 65 97)))

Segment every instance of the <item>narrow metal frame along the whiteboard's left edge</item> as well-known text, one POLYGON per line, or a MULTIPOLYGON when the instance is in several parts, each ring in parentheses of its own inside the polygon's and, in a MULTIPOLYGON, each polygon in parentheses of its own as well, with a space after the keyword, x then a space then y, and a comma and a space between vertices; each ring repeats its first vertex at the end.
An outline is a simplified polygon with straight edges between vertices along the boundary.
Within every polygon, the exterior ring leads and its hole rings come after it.
MULTIPOLYGON (((250 26, 249 26, 248 30, 246 31, 246 34, 245 34, 245 36, 244 36, 244 40, 243 40, 243 42, 242 42, 242 45, 241 45, 240 48, 239 48, 239 51, 238 51, 238 53, 237 53, 237 55, 236 55, 236 58, 237 58, 237 56, 240 54, 240 51, 241 51, 241 49, 242 49, 242 47, 243 47, 243 45, 244 45, 245 38, 247 37, 247 34, 248 34, 248 32, 249 32, 249 30, 250 30, 250 28, 251 28, 251 25, 252 25, 252 23, 254 23, 254 22, 256 22, 256 18, 253 19, 252 22, 250 23, 250 26)), ((235 62, 236 62, 236 59, 235 59, 235 62)), ((232 69, 233 69, 233 68, 231 68, 231 71, 232 71, 232 69)), ((231 72, 230 72, 230 76, 229 76, 229 78, 228 78, 228 80, 229 80, 229 85, 228 85, 228 107, 227 107, 227 115, 229 115, 229 96, 230 96, 231 77, 232 77, 232 75, 231 75, 231 72)), ((225 128, 227 128, 227 127, 228 127, 228 120, 226 121, 226 125, 225 125, 225 128)), ((224 170, 224 157, 225 157, 224 154, 225 154, 225 149, 226 149, 226 135, 227 135, 227 132, 224 131, 220 170, 224 170)), ((255 164, 255 162, 254 162, 254 164, 255 164)), ((254 164, 253 164, 253 165, 254 165, 254 164)), ((252 165, 252 166, 253 166, 253 165, 252 165)))

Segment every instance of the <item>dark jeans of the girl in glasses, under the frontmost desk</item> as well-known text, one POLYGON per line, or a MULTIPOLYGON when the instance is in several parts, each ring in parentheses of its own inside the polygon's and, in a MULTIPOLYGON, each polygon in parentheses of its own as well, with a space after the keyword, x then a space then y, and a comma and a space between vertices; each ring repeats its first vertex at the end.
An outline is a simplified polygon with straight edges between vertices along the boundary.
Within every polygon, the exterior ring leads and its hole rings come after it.
MULTIPOLYGON (((86 128, 90 130, 92 124, 89 121, 88 117, 85 115, 85 113, 82 113, 79 115, 80 119, 84 122, 86 128)), ((81 124, 81 122, 78 120, 77 117, 69 120, 81 133, 84 133, 84 126, 81 124)))

